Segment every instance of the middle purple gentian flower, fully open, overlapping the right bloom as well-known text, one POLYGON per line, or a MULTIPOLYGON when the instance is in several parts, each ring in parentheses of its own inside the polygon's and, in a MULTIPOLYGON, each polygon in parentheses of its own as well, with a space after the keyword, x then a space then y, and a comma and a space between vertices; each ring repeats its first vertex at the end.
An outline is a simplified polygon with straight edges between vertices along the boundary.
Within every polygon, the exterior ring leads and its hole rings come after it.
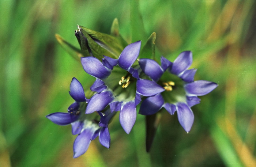
POLYGON ((97 92, 88 102, 86 114, 101 111, 106 106, 120 111, 120 124, 130 133, 136 120, 136 106, 140 95, 154 96, 165 89, 151 80, 140 79, 139 66, 132 66, 139 56, 141 41, 126 46, 117 59, 103 56, 81 57, 84 71, 96 78, 91 91, 97 92))

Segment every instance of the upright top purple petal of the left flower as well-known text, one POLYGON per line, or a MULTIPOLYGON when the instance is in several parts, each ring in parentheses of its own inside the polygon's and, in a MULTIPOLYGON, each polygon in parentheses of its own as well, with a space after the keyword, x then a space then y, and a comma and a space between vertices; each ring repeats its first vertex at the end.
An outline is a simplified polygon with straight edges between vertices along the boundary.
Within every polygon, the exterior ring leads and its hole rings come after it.
POLYGON ((72 78, 69 94, 76 102, 86 101, 83 86, 75 77, 72 78))

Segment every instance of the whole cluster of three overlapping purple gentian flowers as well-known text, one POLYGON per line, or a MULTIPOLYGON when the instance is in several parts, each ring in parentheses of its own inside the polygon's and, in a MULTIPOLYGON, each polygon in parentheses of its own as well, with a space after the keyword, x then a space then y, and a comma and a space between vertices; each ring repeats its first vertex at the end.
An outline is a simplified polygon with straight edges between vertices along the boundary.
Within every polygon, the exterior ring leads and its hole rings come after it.
POLYGON ((196 70, 188 69, 192 64, 191 52, 182 52, 174 62, 161 57, 159 65, 155 60, 139 58, 141 41, 137 41, 127 45, 119 57, 108 54, 99 58, 97 47, 108 48, 106 52, 114 47, 110 48, 111 43, 104 44, 106 41, 102 42, 94 35, 92 42, 96 41, 99 46, 90 48, 87 39, 90 34, 86 36, 85 33, 79 26, 75 35, 81 49, 89 52, 80 61, 84 71, 95 77, 90 87, 93 95, 86 98, 82 84, 74 77, 69 94, 75 102, 68 107, 68 112, 46 116, 58 125, 71 124, 72 134, 78 134, 74 142, 74 157, 85 153, 96 137, 104 147, 110 147, 108 124, 116 111, 120 111, 120 124, 129 134, 139 104, 139 114, 142 115, 155 114, 162 108, 171 115, 177 111, 181 126, 186 132, 191 130, 194 121, 191 107, 200 103, 197 96, 206 95, 218 86, 210 81, 194 81, 196 70))

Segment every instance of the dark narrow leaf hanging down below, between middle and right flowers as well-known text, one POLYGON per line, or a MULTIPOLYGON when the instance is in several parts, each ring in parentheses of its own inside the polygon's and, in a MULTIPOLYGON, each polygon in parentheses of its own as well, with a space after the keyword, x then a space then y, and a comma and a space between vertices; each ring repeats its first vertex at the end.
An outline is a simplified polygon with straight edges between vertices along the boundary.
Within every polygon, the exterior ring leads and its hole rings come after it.
POLYGON ((153 115, 146 115, 146 151, 149 152, 151 145, 154 141, 155 132, 157 132, 157 127, 161 114, 156 113, 153 115))

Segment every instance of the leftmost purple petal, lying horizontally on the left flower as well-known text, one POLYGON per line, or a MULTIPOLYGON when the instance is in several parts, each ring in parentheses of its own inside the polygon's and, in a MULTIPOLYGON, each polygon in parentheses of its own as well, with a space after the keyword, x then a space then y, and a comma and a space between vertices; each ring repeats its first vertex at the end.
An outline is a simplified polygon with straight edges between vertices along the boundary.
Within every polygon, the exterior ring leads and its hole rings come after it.
POLYGON ((79 115, 70 113, 52 113, 46 115, 46 118, 50 119, 54 124, 57 125, 68 125, 75 122, 79 118, 79 115))

